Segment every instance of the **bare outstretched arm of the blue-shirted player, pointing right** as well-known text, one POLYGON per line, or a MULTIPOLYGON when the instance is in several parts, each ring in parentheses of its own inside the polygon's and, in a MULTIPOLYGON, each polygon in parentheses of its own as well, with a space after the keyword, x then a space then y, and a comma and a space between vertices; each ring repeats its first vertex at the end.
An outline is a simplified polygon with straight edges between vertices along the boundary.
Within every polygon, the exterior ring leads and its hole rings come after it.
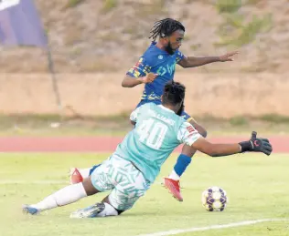
POLYGON ((200 67, 213 62, 225 62, 232 61, 232 56, 238 54, 237 51, 227 53, 222 56, 204 56, 204 57, 196 57, 196 56, 184 56, 177 64, 184 68, 189 67, 200 67))

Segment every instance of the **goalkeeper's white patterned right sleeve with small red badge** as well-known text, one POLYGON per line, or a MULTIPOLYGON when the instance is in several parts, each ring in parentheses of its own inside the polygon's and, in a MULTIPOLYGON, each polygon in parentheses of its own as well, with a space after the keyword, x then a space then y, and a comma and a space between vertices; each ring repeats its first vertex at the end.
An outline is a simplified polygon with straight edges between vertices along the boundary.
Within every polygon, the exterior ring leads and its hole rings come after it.
POLYGON ((187 121, 181 125, 177 133, 177 139, 188 146, 196 142, 199 137, 201 137, 201 135, 198 133, 198 130, 187 121))

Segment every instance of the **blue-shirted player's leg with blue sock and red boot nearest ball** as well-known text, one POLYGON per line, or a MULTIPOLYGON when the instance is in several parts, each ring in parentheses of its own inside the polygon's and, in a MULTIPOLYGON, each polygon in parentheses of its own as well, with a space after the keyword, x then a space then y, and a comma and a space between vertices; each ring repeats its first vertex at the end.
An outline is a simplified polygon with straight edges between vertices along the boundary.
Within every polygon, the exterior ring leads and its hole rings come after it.
MULTIPOLYGON (((187 121, 191 123, 193 127, 196 128, 203 137, 207 137, 206 129, 200 126, 194 118, 188 116, 186 112, 183 112, 183 118, 187 119, 187 121)), ((165 178, 164 180, 165 187, 179 201, 183 200, 179 187, 180 177, 187 169, 187 166, 190 164, 191 158, 194 156, 196 151, 196 149, 184 145, 181 154, 177 158, 177 163, 175 164, 174 169, 172 170, 168 178, 165 178)))

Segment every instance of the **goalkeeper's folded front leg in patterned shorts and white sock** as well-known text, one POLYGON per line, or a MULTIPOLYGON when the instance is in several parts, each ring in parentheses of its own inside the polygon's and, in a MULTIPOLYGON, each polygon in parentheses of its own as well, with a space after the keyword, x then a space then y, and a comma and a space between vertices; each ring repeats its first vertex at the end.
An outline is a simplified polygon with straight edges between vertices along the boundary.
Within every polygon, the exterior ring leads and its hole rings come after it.
POLYGON ((71 218, 91 217, 91 212, 93 217, 116 216, 131 209, 135 201, 144 196, 150 184, 144 180, 143 174, 127 160, 116 157, 114 162, 121 168, 110 172, 112 180, 118 182, 110 195, 89 208, 73 212, 71 218))

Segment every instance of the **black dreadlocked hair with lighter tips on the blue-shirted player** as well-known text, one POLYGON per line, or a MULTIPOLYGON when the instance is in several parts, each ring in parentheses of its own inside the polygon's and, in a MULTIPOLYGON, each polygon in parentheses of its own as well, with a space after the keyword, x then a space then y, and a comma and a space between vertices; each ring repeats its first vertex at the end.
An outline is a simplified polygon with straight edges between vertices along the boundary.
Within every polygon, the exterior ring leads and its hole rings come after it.
POLYGON ((155 41, 157 36, 165 37, 171 36, 176 30, 181 29, 185 31, 185 27, 177 20, 172 18, 166 18, 155 22, 155 25, 151 29, 151 36, 155 41))

